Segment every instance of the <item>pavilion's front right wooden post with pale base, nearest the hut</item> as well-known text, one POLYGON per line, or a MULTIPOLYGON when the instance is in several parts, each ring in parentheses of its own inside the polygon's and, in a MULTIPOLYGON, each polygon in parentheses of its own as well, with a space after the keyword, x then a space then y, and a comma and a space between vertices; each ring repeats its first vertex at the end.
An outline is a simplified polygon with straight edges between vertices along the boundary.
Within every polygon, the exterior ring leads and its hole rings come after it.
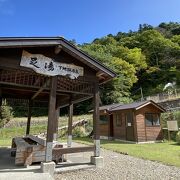
POLYGON ((99 134, 99 85, 94 84, 94 112, 93 112, 93 132, 94 132, 94 156, 100 156, 100 134, 99 134))

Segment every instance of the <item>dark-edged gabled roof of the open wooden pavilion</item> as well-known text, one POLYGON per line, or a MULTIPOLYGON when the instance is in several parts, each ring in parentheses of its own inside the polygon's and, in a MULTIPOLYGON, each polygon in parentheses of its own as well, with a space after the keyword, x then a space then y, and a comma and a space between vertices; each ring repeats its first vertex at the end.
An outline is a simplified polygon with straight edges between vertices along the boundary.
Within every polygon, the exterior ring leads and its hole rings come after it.
POLYGON ((61 45, 62 49, 94 69, 100 83, 104 83, 116 76, 115 72, 104 66, 96 59, 80 50, 63 37, 1 37, 0 48, 23 48, 23 47, 56 47, 61 45))

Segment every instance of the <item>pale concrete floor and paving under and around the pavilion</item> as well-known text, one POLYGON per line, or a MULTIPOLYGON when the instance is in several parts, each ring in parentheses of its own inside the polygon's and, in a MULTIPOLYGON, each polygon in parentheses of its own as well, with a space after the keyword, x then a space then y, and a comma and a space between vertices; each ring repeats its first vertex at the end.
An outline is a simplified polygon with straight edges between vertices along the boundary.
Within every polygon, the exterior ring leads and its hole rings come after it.
MULTIPOLYGON (((64 147, 66 144, 64 144, 64 147)), ((73 143, 73 147, 85 146, 73 143)), ((90 164, 90 157, 93 152, 66 154, 67 162, 56 165, 55 173, 74 171, 78 169, 94 168, 90 164)), ((10 156, 10 148, 0 147, 0 180, 52 180, 48 173, 41 173, 40 164, 33 164, 28 167, 15 166, 15 158, 10 156)))

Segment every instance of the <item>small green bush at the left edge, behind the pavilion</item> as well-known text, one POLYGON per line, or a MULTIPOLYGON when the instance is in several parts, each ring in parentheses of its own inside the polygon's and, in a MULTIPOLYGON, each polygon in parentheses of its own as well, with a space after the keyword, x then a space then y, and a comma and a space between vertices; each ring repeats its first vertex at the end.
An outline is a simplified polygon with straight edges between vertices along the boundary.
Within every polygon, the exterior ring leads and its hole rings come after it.
POLYGON ((12 108, 10 106, 0 107, 0 128, 4 127, 12 117, 12 108))

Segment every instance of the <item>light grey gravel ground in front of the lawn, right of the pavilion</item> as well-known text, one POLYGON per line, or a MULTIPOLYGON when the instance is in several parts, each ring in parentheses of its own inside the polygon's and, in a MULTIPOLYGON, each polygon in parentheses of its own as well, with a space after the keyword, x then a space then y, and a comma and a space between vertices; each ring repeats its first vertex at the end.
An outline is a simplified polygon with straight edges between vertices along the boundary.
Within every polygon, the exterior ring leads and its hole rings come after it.
POLYGON ((180 180, 180 168, 102 150, 104 168, 56 174, 56 180, 180 180))

